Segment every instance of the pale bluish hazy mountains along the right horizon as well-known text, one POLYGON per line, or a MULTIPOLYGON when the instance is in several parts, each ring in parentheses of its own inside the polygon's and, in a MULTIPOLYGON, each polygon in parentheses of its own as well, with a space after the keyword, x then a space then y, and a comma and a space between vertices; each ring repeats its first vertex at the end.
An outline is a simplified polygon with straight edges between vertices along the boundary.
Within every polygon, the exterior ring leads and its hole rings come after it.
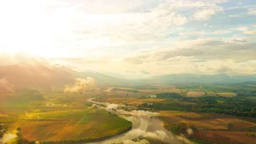
POLYGON ((151 79, 144 80, 150 83, 237 83, 237 82, 256 82, 256 76, 229 76, 224 73, 215 75, 202 75, 202 74, 169 74, 162 76, 154 76, 151 79))

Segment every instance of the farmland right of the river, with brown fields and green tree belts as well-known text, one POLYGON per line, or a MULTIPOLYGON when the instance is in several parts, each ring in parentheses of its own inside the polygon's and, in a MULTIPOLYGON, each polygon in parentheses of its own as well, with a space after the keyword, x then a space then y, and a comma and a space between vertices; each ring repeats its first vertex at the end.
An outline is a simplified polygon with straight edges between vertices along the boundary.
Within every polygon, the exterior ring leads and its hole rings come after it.
POLYGON ((102 96, 96 100, 157 112, 160 114, 157 118, 164 122, 167 130, 177 135, 183 133, 199 144, 254 144, 256 105, 251 91, 255 88, 255 84, 179 84, 176 85, 179 90, 168 91, 165 87, 159 93, 156 87, 145 94, 145 90, 137 89, 136 96, 112 93, 108 99, 102 96), (147 95, 157 98, 147 98, 147 95), (175 131, 177 128, 180 130, 175 131), (188 128, 193 134, 183 131, 188 128))

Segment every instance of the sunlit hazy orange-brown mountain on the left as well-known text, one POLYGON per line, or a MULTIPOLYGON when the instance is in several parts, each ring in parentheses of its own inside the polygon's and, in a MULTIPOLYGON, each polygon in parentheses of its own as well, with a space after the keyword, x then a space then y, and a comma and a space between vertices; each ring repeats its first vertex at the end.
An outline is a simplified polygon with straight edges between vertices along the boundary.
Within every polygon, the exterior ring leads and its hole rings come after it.
POLYGON ((50 88, 62 87, 73 83, 75 78, 93 77, 97 84, 120 84, 124 79, 107 76, 97 72, 76 72, 61 65, 45 63, 18 63, 0 66, 0 79, 8 81, 14 88, 50 88))

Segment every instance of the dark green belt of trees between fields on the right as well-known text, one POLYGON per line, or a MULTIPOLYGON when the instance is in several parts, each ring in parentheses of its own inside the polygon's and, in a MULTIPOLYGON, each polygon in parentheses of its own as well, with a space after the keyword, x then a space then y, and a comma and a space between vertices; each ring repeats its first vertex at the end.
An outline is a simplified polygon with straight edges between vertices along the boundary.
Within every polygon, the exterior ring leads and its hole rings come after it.
POLYGON ((215 112, 243 117, 256 117, 256 103, 251 96, 238 95, 236 97, 183 97, 175 93, 160 93, 158 98, 167 100, 144 105, 156 110, 186 110, 194 112, 215 112), (178 99, 178 100, 173 100, 178 99), (220 102, 221 101, 221 102, 220 102))

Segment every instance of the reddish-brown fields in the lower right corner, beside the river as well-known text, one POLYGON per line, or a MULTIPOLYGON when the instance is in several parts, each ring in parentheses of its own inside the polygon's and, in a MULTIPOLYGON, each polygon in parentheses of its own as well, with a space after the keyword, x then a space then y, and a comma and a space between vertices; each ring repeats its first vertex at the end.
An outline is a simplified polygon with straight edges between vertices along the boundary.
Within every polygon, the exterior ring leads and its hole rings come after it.
POLYGON ((243 120, 240 117, 230 117, 229 115, 218 115, 212 113, 193 113, 165 110, 159 111, 158 116, 164 121, 166 129, 171 130, 174 123, 183 123, 186 126, 195 126, 193 136, 198 140, 210 141, 216 144, 255 144, 256 138, 248 136, 247 129, 256 126, 254 122, 243 120), (228 124, 232 123, 232 131, 228 130, 228 124), (248 141, 243 141, 247 139, 248 141))

